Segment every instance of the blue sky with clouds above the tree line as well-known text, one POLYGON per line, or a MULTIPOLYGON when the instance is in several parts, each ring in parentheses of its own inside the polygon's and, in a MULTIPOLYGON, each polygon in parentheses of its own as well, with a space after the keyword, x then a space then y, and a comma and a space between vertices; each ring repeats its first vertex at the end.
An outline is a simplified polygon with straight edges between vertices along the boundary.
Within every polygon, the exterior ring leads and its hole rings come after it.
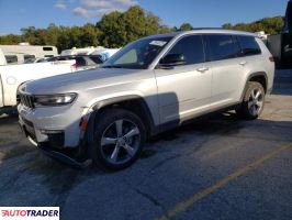
POLYGON ((0 0, 0 35, 20 34, 21 28, 97 23, 111 11, 138 4, 162 24, 218 28, 224 23, 252 22, 284 15, 288 0, 0 0))

